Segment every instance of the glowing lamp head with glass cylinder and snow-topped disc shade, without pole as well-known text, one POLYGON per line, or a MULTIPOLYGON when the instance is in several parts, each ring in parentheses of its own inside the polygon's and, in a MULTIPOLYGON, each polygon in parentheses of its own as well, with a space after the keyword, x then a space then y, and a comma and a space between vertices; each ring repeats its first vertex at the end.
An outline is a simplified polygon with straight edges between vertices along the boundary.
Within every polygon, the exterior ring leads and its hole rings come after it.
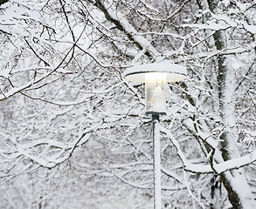
POLYGON ((141 64, 128 68, 123 77, 145 83, 146 114, 166 114, 166 83, 186 78, 186 68, 178 64, 141 64))

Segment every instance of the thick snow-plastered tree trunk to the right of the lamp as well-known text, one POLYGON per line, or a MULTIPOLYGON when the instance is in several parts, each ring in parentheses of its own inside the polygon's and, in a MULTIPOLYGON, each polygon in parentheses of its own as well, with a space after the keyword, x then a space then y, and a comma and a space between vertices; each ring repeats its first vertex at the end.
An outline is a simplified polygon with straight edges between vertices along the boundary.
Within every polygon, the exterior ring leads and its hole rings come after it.
MULTIPOLYGON (((197 3, 200 9, 211 10, 212 13, 218 14, 217 1, 197 0, 197 3)), ((213 41, 216 50, 224 50, 227 44, 225 30, 217 30, 213 35, 213 41)), ((231 64, 229 64, 231 58, 231 56, 219 55, 216 61, 219 115, 222 121, 224 121, 225 127, 228 127, 228 130, 232 129, 232 125, 235 125, 236 119, 235 105, 232 104, 232 96, 235 93, 235 74, 231 64)), ((231 131, 225 130, 219 139, 221 145, 220 151, 224 161, 240 157, 239 148, 231 131)), ((228 199, 233 208, 255 208, 253 193, 246 181, 243 169, 222 173, 220 180, 225 186, 228 199)))

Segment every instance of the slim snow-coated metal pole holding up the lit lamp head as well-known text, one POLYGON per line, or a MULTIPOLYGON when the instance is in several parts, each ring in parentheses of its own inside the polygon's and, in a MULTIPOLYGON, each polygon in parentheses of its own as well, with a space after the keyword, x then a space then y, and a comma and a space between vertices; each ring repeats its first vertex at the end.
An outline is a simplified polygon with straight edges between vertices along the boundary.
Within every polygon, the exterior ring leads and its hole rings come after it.
POLYGON ((161 209, 161 156, 159 114, 152 115, 153 132, 153 172, 154 172, 154 209, 161 209))

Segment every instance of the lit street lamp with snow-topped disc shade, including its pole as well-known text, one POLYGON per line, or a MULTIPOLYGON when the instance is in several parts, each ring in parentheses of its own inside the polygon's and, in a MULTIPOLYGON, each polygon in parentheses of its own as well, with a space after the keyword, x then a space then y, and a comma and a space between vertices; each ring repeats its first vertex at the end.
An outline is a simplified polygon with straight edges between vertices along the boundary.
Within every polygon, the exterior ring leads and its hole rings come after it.
POLYGON ((145 83, 145 111, 152 116, 154 209, 161 209, 161 156, 159 116, 166 115, 166 83, 186 78, 186 68, 178 64, 142 64, 129 68, 123 77, 145 83))

